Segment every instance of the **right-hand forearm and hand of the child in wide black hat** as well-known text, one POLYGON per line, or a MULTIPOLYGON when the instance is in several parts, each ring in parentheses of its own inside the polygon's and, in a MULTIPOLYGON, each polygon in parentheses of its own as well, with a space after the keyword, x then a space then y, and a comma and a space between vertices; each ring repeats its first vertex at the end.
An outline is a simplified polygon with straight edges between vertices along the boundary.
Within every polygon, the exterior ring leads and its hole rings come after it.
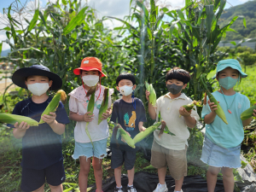
POLYGON ((65 125, 58 123, 55 118, 56 118, 56 113, 49 113, 50 115, 44 114, 42 119, 44 120, 45 123, 47 123, 55 133, 62 135, 65 131, 65 125))

